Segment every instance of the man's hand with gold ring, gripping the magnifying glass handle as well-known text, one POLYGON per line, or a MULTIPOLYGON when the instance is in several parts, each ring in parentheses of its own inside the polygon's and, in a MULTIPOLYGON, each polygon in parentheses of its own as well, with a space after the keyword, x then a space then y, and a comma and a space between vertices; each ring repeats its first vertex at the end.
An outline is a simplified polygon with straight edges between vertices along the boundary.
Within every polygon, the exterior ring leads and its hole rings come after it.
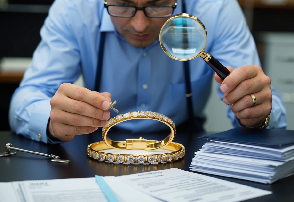
POLYGON ((231 105, 232 111, 242 125, 260 126, 272 110, 273 93, 270 78, 256 65, 227 68, 231 73, 223 81, 214 74, 215 80, 221 84, 220 90, 225 93, 223 102, 231 105), (254 107, 250 94, 256 98, 254 107))

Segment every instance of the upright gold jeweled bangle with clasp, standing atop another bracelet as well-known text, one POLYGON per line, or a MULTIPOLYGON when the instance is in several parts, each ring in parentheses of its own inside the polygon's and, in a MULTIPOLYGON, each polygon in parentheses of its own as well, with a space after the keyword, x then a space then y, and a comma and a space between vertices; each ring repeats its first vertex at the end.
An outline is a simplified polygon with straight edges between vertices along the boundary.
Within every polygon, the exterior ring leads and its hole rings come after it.
POLYGON ((173 121, 158 112, 151 112, 151 111, 140 111, 140 112, 128 112, 125 114, 117 115, 114 118, 111 118, 105 126, 102 128, 102 138, 106 145, 111 148, 116 149, 145 149, 145 150, 153 150, 164 147, 171 143, 176 135, 176 126, 173 121), (132 120, 132 119, 152 119, 156 121, 163 122, 164 124, 168 125, 171 129, 171 133, 161 141, 156 141, 152 143, 147 143, 145 139, 126 139, 126 141, 113 141, 110 138, 106 137, 109 129, 111 129, 116 124, 132 120))

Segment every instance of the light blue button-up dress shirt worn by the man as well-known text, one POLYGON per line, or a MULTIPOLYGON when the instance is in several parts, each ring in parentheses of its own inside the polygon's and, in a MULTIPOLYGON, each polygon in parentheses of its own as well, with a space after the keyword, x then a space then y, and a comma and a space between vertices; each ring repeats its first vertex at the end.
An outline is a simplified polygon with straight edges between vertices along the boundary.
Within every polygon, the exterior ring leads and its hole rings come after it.
MULTIPOLYGON (((260 65, 253 37, 237 1, 186 0, 186 9, 206 27, 206 52, 224 66, 260 65)), ((181 1, 178 1, 174 14, 181 12, 181 1)), ((46 137, 50 99, 62 83, 73 83, 81 73, 84 86, 95 89, 101 32, 106 32, 106 39, 100 92, 111 93, 120 113, 160 112, 176 125, 187 120, 183 62, 168 57, 158 39, 146 48, 128 44, 116 32, 102 0, 56 0, 41 29, 42 40, 33 61, 11 100, 9 120, 13 131, 33 140, 53 143, 46 137)), ((189 64, 194 114, 204 117, 211 82, 216 82, 214 72, 200 57, 189 64)), ((219 89, 218 94, 222 99, 219 89)), ((275 90, 272 105, 270 128, 284 128, 285 108, 275 90)), ((111 117, 117 115, 110 112, 111 117)), ((230 106, 228 116, 235 127, 240 126, 230 106)), ((117 127, 151 132, 165 125, 137 120, 122 122, 117 127)))

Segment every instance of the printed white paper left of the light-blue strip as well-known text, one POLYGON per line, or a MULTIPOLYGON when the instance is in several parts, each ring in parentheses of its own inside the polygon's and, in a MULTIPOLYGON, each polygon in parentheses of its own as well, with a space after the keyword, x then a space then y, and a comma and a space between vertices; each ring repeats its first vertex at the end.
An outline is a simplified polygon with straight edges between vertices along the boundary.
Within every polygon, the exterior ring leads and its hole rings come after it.
POLYGON ((93 178, 0 182, 0 201, 107 202, 93 178))

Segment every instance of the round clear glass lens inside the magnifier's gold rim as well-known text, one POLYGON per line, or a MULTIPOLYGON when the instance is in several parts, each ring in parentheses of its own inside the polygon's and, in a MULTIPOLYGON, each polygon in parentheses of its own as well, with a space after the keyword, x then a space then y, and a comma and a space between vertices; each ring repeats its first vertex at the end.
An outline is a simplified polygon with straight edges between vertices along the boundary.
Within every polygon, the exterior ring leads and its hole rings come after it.
POLYGON ((171 56, 188 60, 203 52, 206 32, 198 21, 187 17, 178 17, 171 19, 163 27, 161 42, 171 56))

